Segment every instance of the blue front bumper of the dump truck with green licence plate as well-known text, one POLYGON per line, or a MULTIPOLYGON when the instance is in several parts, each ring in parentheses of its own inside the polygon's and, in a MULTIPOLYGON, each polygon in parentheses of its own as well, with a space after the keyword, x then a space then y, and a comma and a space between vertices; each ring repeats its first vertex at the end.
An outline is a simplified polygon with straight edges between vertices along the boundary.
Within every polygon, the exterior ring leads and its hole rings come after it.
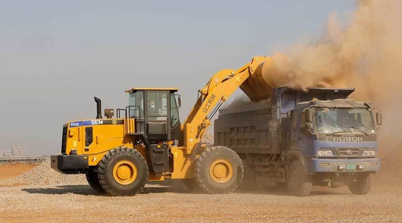
POLYGON ((379 158, 311 159, 312 172, 375 172, 380 169, 379 158))

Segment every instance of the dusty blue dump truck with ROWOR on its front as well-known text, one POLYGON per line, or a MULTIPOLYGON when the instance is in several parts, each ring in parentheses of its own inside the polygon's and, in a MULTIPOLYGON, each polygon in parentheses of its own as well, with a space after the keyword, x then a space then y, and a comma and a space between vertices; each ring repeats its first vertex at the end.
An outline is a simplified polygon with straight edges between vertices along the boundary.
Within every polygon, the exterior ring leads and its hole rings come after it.
POLYGON ((353 91, 272 88, 268 100, 220 109, 215 146, 240 156, 245 187, 287 184, 292 194, 306 196, 313 185, 348 185, 365 194, 380 168, 382 115, 374 116, 370 102, 349 99, 353 91))

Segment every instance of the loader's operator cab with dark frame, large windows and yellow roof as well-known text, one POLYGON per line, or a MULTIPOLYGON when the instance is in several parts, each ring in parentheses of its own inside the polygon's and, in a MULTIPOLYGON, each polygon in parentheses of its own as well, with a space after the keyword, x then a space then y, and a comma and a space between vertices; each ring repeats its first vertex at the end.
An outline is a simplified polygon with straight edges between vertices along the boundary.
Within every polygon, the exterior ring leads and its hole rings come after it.
POLYGON ((179 140, 181 135, 177 88, 132 88, 127 115, 134 118, 135 133, 152 142, 179 140))

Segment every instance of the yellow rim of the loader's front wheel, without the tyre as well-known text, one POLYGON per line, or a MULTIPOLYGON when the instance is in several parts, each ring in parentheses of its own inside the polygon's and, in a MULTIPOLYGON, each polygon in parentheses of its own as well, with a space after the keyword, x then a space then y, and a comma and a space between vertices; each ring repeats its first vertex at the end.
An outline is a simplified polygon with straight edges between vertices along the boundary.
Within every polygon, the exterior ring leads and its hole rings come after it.
POLYGON ((233 177, 232 164, 225 159, 215 160, 210 167, 210 176, 217 183, 226 183, 233 177))

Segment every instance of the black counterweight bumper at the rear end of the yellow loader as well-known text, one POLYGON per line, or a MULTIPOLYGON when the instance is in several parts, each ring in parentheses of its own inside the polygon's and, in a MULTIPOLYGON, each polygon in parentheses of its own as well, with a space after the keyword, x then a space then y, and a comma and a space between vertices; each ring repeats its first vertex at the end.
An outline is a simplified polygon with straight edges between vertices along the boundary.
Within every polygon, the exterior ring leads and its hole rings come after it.
POLYGON ((50 167, 64 174, 85 173, 88 166, 88 156, 84 155, 52 155, 50 167))

